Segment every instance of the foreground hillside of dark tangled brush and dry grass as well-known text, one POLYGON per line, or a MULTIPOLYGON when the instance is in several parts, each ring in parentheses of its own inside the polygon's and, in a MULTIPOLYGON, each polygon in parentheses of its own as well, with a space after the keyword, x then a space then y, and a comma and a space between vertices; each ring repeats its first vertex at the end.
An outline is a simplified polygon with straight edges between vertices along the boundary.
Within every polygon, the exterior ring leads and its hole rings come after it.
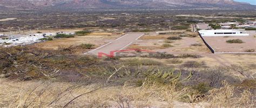
POLYGON ((1 50, 2 107, 173 106, 177 101, 226 107, 255 105, 255 80, 246 74, 243 80, 226 74, 242 68, 208 68, 204 62, 177 59, 195 58, 192 55, 158 53, 151 56, 156 60, 99 59, 72 55, 68 49, 15 46, 1 50), (183 68, 158 62, 161 58, 174 58, 168 62, 183 68))

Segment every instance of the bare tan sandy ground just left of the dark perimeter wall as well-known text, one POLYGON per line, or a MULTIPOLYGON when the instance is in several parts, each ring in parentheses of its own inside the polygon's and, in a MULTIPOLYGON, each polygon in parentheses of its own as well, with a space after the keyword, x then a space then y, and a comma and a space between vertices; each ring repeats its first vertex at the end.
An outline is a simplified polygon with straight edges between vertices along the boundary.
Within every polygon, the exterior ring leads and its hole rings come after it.
POLYGON ((130 49, 144 49, 158 52, 167 52, 172 54, 182 53, 210 53, 210 50, 204 45, 200 37, 182 37, 180 40, 168 40, 169 36, 177 35, 157 35, 157 36, 143 36, 137 43, 132 44, 130 49), (171 43, 166 43, 171 41, 171 43), (202 46, 191 46, 191 44, 200 43, 202 46), (170 44, 172 47, 165 48, 163 44, 170 44))

